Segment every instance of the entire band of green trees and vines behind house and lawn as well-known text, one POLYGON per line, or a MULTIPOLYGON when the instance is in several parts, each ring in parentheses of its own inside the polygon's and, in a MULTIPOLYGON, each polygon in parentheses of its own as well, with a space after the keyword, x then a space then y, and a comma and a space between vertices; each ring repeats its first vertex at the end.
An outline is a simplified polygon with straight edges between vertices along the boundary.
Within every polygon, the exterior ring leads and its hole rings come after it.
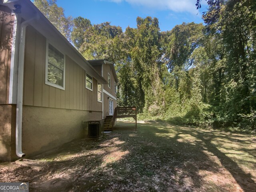
POLYGON ((86 59, 114 62, 119 106, 137 106, 143 119, 255 130, 254 1, 207 0, 205 26, 182 23, 166 32, 150 16, 123 32, 110 22, 71 22, 56 0, 34 3, 86 59))

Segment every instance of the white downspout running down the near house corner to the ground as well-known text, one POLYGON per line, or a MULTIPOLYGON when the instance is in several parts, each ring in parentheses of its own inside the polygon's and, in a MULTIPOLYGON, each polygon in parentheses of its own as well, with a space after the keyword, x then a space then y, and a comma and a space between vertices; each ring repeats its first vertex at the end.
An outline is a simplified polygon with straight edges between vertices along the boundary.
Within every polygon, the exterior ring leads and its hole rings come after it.
POLYGON ((21 23, 19 58, 18 58, 18 82, 17 82, 17 107, 16 107, 16 154, 18 157, 24 157, 22 153, 22 105, 23 105, 23 75, 24 75, 24 54, 25 54, 25 36, 28 23, 38 17, 31 18, 21 23))

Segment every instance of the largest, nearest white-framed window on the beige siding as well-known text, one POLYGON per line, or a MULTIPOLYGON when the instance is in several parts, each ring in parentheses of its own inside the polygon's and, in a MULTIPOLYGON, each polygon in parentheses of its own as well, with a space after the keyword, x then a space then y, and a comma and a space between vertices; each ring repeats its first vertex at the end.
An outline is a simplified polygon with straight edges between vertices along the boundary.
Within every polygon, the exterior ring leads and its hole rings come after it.
POLYGON ((56 88, 65 89, 65 57, 51 44, 48 44, 46 49, 45 83, 56 88))

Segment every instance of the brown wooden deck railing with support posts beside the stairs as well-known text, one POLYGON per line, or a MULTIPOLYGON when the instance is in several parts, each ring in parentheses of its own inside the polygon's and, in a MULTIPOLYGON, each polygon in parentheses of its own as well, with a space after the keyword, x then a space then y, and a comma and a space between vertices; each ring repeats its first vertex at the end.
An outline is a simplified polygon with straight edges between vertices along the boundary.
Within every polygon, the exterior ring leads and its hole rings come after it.
POLYGON ((112 118, 112 128, 116 118, 132 117, 135 120, 135 128, 137 130, 137 110, 136 107, 116 107, 112 118))

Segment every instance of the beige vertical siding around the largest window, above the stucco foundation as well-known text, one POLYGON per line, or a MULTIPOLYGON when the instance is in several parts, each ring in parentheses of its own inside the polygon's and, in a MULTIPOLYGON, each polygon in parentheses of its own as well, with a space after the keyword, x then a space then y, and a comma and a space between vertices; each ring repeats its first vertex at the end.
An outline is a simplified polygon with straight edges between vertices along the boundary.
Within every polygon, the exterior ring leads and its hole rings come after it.
POLYGON ((93 78, 93 91, 86 89, 85 71, 68 55, 65 90, 45 84, 46 38, 31 26, 26 31, 24 105, 102 111, 102 103, 97 101, 97 80, 93 78))

